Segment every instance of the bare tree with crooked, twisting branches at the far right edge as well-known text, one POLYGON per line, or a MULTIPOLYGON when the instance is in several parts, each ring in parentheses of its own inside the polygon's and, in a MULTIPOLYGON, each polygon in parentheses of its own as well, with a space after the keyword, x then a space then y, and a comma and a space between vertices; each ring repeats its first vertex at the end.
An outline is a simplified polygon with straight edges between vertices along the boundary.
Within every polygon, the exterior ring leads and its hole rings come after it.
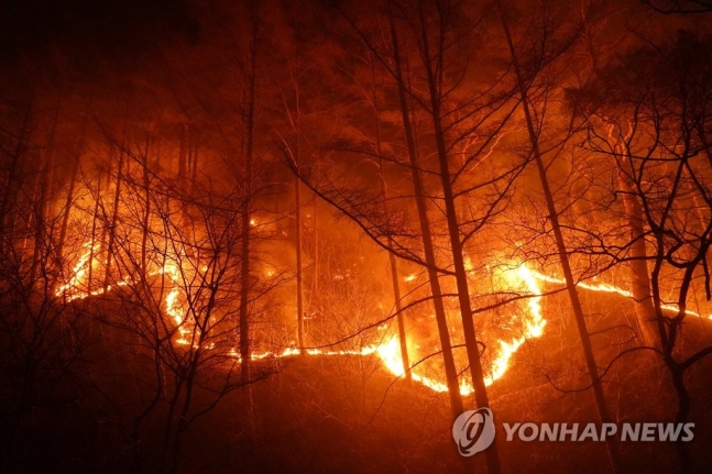
MULTIPOLYGON (((687 422, 690 411, 686 373, 712 353, 710 346, 683 349, 680 342, 690 322, 689 299, 695 284, 710 299, 712 109, 704 91, 712 84, 712 71, 698 66, 705 55, 708 38, 679 32, 673 43, 644 46, 626 56, 634 69, 610 66, 595 92, 589 92, 589 98, 598 97, 595 110, 605 119, 592 123, 590 144, 613 157, 616 173, 629 184, 615 192, 639 202, 639 233, 623 247, 644 242, 651 249, 644 263, 659 340, 647 349, 660 354, 668 368, 678 398, 678 423, 687 422), (672 295, 671 300, 664 295, 672 295)), ((690 472, 687 445, 678 442, 677 447, 682 471, 690 472)))

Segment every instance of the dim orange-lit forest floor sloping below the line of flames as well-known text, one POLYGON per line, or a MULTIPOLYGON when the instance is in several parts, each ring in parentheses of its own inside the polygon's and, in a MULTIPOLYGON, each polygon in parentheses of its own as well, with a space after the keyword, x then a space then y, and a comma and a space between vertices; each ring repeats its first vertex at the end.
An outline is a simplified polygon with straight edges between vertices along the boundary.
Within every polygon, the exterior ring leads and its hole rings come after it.
MULTIPOLYGON (((633 307, 629 299, 617 295, 585 290, 581 295, 590 315, 589 330, 598 333, 593 340, 603 367, 622 350, 635 345, 627 329, 634 323, 633 307)), ((565 294, 545 298, 545 334, 524 344, 511 361, 512 368, 490 388, 504 472, 611 472, 604 442, 505 441, 503 422, 598 420, 591 390, 568 392, 585 387, 588 375, 582 370, 576 324, 566 307, 565 294)), ((683 348, 692 350, 712 341, 711 334, 712 321, 690 318, 683 348)), ((282 373, 252 387, 253 428, 245 429, 244 411, 230 404, 201 421, 191 443, 200 445, 198 452, 219 454, 186 456, 188 472, 461 472, 447 394, 395 379, 379 364, 375 356, 288 361, 282 373), (220 427, 230 419, 240 422, 220 427)), ((703 361, 687 377, 692 398, 690 421, 695 423, 688 448, 693 472, 700 473, 712 472, 711 368, 712 360, 703 361)), ((675 419, 677 399, 651 352, 622 356, 605 381, 614 421, 675 419)), ((465 403, 473 405, 471 397, 465 403)), ((620 443, 620 450, 621 472, 679 470, 675 443, 628 441, 620 443)), ((482 463, 483 455, 475 455, 474 467, 482 463)))

